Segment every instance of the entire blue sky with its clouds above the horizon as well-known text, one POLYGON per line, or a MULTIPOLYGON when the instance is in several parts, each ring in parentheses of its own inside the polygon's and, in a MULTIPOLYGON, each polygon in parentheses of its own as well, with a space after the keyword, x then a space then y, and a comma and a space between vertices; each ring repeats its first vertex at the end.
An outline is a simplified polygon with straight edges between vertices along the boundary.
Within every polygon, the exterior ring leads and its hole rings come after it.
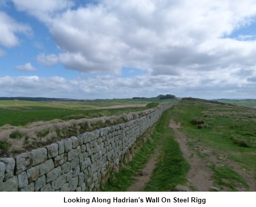
POLYGON ((255 92, 255 0, 0 0, 0 97, 255 92))

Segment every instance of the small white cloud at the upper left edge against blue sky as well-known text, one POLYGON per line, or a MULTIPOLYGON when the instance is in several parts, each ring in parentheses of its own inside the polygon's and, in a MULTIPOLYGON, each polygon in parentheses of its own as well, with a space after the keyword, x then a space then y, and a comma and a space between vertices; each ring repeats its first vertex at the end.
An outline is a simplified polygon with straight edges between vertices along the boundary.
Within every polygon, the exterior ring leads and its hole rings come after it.
POLYGON ((14 47, 19 44, 19 38, 15 35, 16 33, 32 35, 32 30, 29 26, 18 23, 2 11, 0 11, 0 28, 0 45, 5 47, 14 47))

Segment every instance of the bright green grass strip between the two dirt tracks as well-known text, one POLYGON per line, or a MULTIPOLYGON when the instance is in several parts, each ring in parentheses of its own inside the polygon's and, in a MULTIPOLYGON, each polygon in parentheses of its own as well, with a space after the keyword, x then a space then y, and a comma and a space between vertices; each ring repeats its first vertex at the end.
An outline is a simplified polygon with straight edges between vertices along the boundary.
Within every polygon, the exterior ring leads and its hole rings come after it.
POLYGON ((159 162, 147 183, 145 191, 172 191, 177 185, 186 183, 189 164, 184 159, 179 144, 174 140, 174 131, 169 127, 170 110, 161 118, 156 135, 162 146, 159 162))

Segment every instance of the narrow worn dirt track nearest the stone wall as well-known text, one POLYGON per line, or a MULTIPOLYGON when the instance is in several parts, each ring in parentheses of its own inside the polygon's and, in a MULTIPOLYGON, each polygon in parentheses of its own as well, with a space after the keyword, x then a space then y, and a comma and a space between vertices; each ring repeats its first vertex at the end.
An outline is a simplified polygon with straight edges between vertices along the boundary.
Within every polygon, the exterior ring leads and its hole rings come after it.
POLYGON ((137 173, 137 176, 134 178, 134 184, 127 190, 128 192, 138 192, 144 190, 146 183, 150 180, 157 164, 160 154, 159 151, 159 147, 155 149, 154 154, 151 156, 150 160, 148 160, 146 166, 141 172, 137 173))

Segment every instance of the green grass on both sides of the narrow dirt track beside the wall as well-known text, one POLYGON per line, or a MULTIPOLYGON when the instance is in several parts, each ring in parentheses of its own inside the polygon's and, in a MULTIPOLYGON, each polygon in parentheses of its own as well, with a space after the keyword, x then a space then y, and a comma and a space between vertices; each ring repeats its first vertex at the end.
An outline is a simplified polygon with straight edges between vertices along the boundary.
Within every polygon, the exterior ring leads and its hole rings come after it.
POLYGON ((133 160, 118 173, 113 174, 102 191, 127 191, 133 184, 133 177, 143 169, 158 145, 162 146, 162 153, 145 191, 170 191, 186 181, 185 175, 189 165, 183 158, 178 143, 174 141, 173 131, 168 126, 169 120, 170 110, 168 109, 162 114, 155 129, 148 134, 147 141, 133 160))

